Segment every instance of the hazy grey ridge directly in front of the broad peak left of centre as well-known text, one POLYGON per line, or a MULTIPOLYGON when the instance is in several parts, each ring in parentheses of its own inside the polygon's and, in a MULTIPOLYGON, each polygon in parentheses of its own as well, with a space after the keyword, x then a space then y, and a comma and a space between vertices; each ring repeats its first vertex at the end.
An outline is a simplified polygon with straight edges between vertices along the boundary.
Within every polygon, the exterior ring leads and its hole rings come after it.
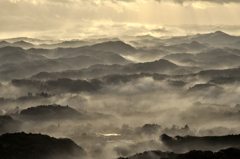
POLYGON ((117 53, 102 50, 94 50, 91 46, 84 46, 78 48, 57 48, 52 50, 32 48, 26 50, 26 52, 43 55, 48 58, 55 59, 57 61, 61 60, 61 62, 66 62, 66 64, 74 66, 74 68, 76 69, 89 67, 93 64, 130 63, 130 61, 126 60, 124 57, 120 56, 117 53), (79 59, 79 62, 77 62, 77 59, 79 59))

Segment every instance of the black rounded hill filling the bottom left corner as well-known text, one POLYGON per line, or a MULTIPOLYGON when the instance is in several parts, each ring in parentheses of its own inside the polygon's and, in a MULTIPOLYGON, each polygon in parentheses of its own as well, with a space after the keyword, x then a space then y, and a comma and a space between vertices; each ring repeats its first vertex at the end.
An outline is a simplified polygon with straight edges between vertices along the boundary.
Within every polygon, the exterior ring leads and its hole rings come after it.
POLYGON ((0 136, 0 159, 81 159, 85 155, 70 139, 23 132, 0 136))

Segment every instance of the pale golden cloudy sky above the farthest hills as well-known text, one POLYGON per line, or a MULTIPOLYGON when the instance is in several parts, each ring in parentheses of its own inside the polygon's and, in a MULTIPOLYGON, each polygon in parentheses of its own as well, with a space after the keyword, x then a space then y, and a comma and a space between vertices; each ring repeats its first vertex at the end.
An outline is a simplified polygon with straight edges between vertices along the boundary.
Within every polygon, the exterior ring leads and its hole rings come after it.
POLYGON ((0 0, 0 36, 240 32, 240 0, 0 0))

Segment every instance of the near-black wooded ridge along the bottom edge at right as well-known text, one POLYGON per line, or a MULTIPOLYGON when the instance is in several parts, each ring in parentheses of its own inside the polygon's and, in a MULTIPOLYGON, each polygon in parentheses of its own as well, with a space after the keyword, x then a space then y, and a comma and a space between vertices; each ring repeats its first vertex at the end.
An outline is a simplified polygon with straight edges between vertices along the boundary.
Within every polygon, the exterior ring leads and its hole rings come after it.
POLYGON ((239 159, 240 149, 228 148, 218 152, 193 150, 185 154, 173 152, 147 151, 119 159, 239 159))

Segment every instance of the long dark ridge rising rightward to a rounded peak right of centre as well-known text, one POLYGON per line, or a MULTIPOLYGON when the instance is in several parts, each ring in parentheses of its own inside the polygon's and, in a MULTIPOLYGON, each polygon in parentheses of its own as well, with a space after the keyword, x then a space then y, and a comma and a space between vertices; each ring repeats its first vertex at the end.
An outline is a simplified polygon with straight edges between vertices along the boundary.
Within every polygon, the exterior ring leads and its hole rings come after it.
POLYGON ((131 63, 127 65, 93 65, 81 70, 68 70, 64 72, 46 73, 42 72, 32 76, 34 79, 54 78, 96 78, 111 74, 129 74, 129 73, 171 73, 177 72, 181 67, 167 60, 160 59, 146 63, 131 63))

